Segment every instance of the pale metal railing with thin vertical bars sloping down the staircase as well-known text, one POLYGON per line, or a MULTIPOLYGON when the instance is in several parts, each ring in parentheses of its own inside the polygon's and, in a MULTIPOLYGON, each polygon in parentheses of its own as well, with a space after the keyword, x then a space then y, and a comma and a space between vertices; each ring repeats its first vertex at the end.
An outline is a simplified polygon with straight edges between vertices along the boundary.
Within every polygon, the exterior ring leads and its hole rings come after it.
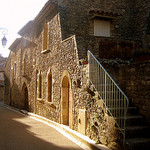
POLYGON ((116 125, 124 135, 129 100, 95 56, 88 51, 89 82, 103 100, 107 112, 115 118, 116 125))

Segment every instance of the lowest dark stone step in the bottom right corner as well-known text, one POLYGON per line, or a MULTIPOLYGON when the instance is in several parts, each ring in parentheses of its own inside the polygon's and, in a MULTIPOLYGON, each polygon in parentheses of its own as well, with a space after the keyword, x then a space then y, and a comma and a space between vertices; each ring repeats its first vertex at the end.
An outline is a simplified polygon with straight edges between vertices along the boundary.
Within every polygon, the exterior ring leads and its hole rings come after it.
POLYGON ((126 140, 126 150, 149 150, 150 138, 135 138, 126 140))

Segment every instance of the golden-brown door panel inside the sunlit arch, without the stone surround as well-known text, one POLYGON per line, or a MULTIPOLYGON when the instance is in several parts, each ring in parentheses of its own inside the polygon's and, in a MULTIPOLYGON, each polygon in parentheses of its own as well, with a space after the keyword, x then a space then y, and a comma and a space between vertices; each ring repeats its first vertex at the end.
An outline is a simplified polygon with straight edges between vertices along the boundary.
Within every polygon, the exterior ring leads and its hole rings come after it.
POLYGON ((61 103, 61 123, 69 126, 69 79, 67 76, 62 80, 62 103, 61 103))

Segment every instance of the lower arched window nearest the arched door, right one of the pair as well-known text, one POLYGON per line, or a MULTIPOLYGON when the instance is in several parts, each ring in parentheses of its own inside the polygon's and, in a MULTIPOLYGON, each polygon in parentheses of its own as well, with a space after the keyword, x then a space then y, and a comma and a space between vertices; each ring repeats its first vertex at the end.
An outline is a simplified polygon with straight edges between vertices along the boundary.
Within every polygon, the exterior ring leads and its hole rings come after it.
POLYGON ((52 73, 48 74, 48 102, 52 102, 52 73))

